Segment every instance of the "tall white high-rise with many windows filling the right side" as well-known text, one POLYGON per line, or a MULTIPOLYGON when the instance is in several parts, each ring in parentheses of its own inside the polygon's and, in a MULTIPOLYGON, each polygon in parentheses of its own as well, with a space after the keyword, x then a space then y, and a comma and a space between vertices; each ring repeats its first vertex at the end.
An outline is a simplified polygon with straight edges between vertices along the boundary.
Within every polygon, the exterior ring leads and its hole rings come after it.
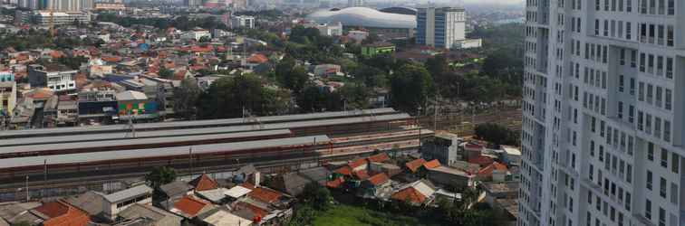
POLYGON ((518 225, 685 225, 685 1, 526 4, 518 225))

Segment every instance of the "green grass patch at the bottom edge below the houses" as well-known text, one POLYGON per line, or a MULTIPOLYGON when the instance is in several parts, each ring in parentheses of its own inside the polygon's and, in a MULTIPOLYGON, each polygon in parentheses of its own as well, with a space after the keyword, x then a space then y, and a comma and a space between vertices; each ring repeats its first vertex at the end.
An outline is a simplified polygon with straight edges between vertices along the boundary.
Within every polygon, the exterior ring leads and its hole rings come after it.
POLYGON ((350 205, 334 205, 326 212, 320 212, 314 226, 438 226, 439 223, 421 221, 418 218, 390 212, 376 212, 350 205))

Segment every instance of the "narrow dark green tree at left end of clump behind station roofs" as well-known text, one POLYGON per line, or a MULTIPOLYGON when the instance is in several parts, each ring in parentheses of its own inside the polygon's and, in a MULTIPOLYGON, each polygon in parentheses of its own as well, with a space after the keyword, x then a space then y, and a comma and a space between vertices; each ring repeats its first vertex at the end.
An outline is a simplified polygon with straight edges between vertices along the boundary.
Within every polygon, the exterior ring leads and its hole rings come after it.
POLYGON ((195 114, 199 95, 202 90, 198 82, 193 79, 181 80, 180 86, 174 89, 174 112, 182 118, 190 118, 195 114))

